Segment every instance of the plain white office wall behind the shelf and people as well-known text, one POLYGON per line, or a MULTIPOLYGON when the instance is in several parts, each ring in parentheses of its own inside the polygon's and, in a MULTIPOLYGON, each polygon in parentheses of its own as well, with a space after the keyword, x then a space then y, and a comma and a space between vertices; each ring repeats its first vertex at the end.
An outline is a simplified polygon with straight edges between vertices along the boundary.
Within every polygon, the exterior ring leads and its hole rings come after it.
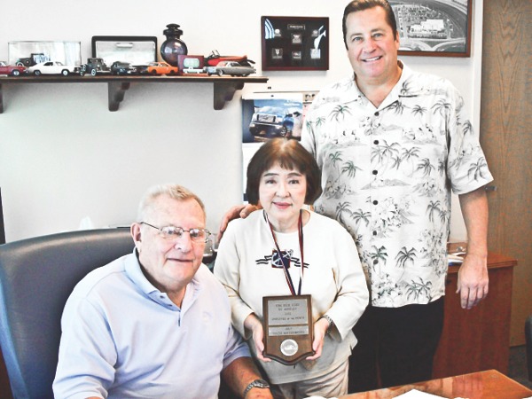
MULTIPOLYGON (((49 0, 21 6, 4 2, 0 59, 8 42, 81 41, 90 56, 92 35, 156 35, 177 23, 189 54, 246 54, 261 72, 260 17, 330 18, 330 70, 271 72, 265 84, 247 84, 222 111, 213 110, 210 83, 133 83, 120 110, 107 110, 106 84, 4 84, 0 114, 0 188, 6 239, 130 223, 145 189, 176 182, 197 192, 207 206, 207 227, 216 230, 224 211, 241 200, 240 102, 243 93, 319 90, 350 74, 341 37, 347 0, 117 1, 49 0)), ((403 57, 419 70, 442 74, 462 91, 479 126, 481 1, 473 14, 470 59, 403 57)), ((461 217, 452 221, 464 237, 461 217)))

